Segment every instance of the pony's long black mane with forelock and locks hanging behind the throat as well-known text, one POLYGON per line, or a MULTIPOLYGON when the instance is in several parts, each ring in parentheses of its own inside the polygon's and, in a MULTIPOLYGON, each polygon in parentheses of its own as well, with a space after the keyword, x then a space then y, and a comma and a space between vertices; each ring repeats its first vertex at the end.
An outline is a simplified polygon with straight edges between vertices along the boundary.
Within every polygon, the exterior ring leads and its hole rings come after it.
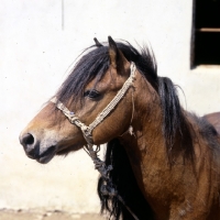
MULTIPOLYGON (((177 134, 189 132, 189 124, 184 116, 176 88, 172 80, 166 77, 157 76, 157 66, 153 53, 146 46, 140 51, 135 50, 128 42, 118 42, 118 48, 123 53, 129 62, 133 62, 139 72, 155 88, 160 98, 163 111, 163 134, 166 143, 167 154, 169 155, 177 134)), ((74 70, 67 77, 57 91, 56 97, 66 102, 72 100, 82 100, 85 86, 96 78, 99 81, 109 68, 109 47, 106 43, 103 46, 91 46, 86 54, 75 65, 74 70)), ((191 134, 188 133, 190 138, 191 134)), ((185 139, 183 136, 183 143, 185 139)), ((193 158, 194 147, 189 139, 187 148, 184 148, 187 158, 193 158)), ((140 219, 151 219, 151 208, 143 195, 141 194, 131 165, 123 146, 119 140, 114 139, 108 143, 106 154, 107 165, 113 164, 113 170, 110 173, 113 184, 119 195, 123 197, 128 206, 135 212, 140 219)), ((120 217, 125 220, 132 220, 133 217, 128 212, 123 205, 117 198, 103 197, 100 194, 102 179, 99 179, 98 193, 101 199, 101 210, 109 211, 118 220, 120 217)))

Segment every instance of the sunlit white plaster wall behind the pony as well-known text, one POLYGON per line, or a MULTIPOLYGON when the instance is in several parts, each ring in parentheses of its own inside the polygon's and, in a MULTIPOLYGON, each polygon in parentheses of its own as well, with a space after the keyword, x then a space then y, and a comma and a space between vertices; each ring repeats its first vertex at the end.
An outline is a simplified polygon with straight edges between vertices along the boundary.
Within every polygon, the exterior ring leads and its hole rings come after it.
POLYGON ((1 0, 0 209, 99 210, 98 175, 84 151, 40 165, 18 140, 95 36, 151 43, 158 75, 182 86, 188 110, 220 110, 220 70, 189 69, 191 6, 190 0, 64 0, 62 29, 62 0, 1 0))

